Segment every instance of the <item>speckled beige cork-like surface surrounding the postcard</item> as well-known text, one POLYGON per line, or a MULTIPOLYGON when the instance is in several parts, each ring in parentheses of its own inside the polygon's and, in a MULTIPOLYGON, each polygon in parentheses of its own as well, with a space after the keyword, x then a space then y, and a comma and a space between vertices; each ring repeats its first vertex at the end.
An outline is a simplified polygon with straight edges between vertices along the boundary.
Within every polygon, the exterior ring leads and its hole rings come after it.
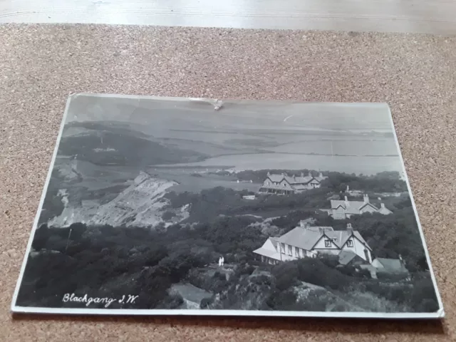
POLYGON ((0 26, 0 341, 456 338, 456 38, 133 26, 0 26), (386 101, 446 321, 76 318, 9 312, 69 93, 386 101))

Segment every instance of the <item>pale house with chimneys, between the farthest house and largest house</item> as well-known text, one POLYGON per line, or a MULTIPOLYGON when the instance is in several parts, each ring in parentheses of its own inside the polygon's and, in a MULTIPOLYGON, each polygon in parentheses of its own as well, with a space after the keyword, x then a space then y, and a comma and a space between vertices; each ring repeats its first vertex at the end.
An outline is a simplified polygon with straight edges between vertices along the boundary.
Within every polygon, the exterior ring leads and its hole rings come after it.
POLYGON ((349 201, 331 199, 331 209, 326 210, 333 219, 349 219, 353 215, 361 215, 365 212, 379 212, 380 214, 388 215, 393 212, 385 207, 385 204, 380 203, 380 208, 369 202, 368 195, 363 196, 363 201, 349 201))

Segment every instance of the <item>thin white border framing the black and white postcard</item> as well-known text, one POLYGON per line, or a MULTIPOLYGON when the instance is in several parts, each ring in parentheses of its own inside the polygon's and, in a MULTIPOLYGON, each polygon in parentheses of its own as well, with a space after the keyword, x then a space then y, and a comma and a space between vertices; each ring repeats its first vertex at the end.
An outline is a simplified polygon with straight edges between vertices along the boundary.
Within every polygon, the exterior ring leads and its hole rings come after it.
MULTIPOLYGON (((58 133, 56 147, 54 148, 51 165, 48 170, 48 175, 46 177, 46 183, 43 188, 43 193, 41 195, 41 200, 38 205, 38 210, 36 212, 36 217, 33 222, 33 229, 28 239, 26 253, 24 254, 24 259, 22 261, 21 272, 19 274, 19 279, 16 284, 16 289, 14 290, 13 300, 11 303, 11 311, 13 313, 23 313, 23 314, 74 314, 74 315, 133 315, 133 316, 158 316, 158 315, 170 315, 170 316, 282 316, 282 317, 333 317, 333 318, 443 318, 445 317, 445 311, 442 305, 442 299, 440 297, 440 292, 437 288, 437 281, 435 281, 435 275, 432 271, 432 265, 430 263, 429 252, 427 251, 427 246, 425 242, 425 237, 423 234, 423 228, 421 227, 420 219, 418 217, 418 211, 415 206, 415 200, 413 199, 412 190, 410 188, 410 182, 408 180, 408 175, 405 170, 405 163, 403 160, 402 152, 400 150, 400 145, 398 141, 398 136, 396 135, 393 115, 388 104, 386 103, 312 103, 312 102, 299 102, 299 101, 278 101, 278 100, 226 100, 228 103, 230 101, 235 101, 238 103, 275 103, 275 104, 318 104, 318 105, 385 105, 388 108, 388 113, 390 116, 391 128, 393 129, 396 148, 399 153, 400 162, 402 163, 402 169, 405 176, 405 182, 407 183, 408 193, 410 195, 410 201, 412 202, 413 212, 415 212, 415 219, 418 223, 418 229, 420 231, 421 241, 425 249, 426 261, 429 266, 429 271, 432 279, 432 284, 434 285, 435 294, 437 296, 437 301, 439 304, 439 310, 431 313, 381 313, 381 312, 326 312, 326 311, 257 311, 257 310, 191 310, 191 309, 171 309, 171 310, 159 310, 159 309, 66 309, 66 308, 42 308, 42 307, 32 307, 32 306, 16 306, 17 296, 19 294, 19 289, 21 286, 22 279, 24 277, 24 271, 26 268, 26 263, 28 259, 28 254, 30 254, 31 244, 33 242, 33 237, 38 227, 38 219, 41 214, 41 209, 43 207, 43 202, 48 191, 49 181, 51 180, 51 174, 53 170, 54 163, 56 161, 58 146, 60 145, 61 136, 63 133, 63 128, 66 123, 66 118, 68 115, 68 109, 70 107, 71 100, 78 96, 92 96, 92 97, 103 97, 103 98, 137 98, 140 99, 149 99, 149 100, 182 100, 182 101, 192 101, 198 100, 202 102, 212 103, 212 99, 202 99, 202 98, 173 98, 173 97, 161 97, 161 96, 143 96, 143 95, 115 95, 115 94, 96 94, 96 93, 77 93, 71 94, 68 97, 66 102, 65 112, 63 113, 63 119, 61 122, 61 127, 58 133)), ((219 113, 219 112, 215 112, 219 113)))

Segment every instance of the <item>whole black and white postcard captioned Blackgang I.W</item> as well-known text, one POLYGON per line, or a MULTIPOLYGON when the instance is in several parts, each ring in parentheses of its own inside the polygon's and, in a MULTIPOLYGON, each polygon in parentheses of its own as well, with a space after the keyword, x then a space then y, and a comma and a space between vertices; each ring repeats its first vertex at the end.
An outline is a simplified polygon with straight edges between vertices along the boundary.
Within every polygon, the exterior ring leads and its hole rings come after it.
POLYGON ((385 103, 68 98, 11 306, 441 318, 385 103))

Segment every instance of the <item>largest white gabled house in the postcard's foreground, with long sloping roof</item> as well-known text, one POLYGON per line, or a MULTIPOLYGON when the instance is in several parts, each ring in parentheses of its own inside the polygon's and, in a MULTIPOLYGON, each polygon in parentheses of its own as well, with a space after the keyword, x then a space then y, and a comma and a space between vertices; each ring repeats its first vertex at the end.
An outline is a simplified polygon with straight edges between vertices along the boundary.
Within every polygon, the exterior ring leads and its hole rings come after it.
POLYGON ((261 261, 269 264, 316 257, 319 253, 338 255, 345 260, 348 259, 346 252, 351 252, 347 264, 352 259, 371 264, 372 249, 351 224, 347 224, 346 230, 335 231, 333 227, 311 227, 304 222, 281 237, 269 237, 263 246, 254 250, 261 261))

